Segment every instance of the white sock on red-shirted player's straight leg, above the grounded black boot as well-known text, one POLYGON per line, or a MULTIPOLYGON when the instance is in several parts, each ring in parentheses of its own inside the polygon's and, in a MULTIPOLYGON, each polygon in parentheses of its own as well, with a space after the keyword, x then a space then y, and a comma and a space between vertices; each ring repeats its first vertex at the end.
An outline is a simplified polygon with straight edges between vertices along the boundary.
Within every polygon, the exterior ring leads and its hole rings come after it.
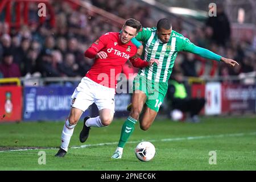
POLYGON ((76 125, 71 125, 67 119, 64 124, 62 134, 61 134, 61 148, 65 151, 68 151, 68 144, 73 135, 74 127, 76 125))

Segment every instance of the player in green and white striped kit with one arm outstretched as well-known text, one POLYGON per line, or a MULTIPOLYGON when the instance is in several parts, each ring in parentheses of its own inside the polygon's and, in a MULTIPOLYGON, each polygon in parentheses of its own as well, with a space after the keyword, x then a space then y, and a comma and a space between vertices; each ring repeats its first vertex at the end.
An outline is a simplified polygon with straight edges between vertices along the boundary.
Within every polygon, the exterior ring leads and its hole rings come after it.
POLYGON ((118 147, 112 156, 114 159, 122 158, 123 147, 133 133, 138 119, 142 130, 150 128, 166 96, 168 80, 179 51, 195 53, 206 59, 223 61, 232 66, 238 64, 232 59, 195 46, 189 39, 172 30, 171 23, 166 18, 160 19, 156 27, 143 28, 135 38, 143 43, 143 59, 158 59, 159 64, 140 69, 134 78, 131 111, 123 123, 118 147))

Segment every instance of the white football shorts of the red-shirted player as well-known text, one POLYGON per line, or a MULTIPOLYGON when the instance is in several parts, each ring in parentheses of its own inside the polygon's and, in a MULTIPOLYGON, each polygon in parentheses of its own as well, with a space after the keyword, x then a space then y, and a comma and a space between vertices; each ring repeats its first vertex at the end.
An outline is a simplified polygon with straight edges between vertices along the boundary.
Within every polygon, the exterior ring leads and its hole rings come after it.
POLYGON ((100 85, 88 77, 83 77, 73 92, 71 106, 82 111, 94 102, 101 109, 110 109, 115 113, 115 89, 100 85))

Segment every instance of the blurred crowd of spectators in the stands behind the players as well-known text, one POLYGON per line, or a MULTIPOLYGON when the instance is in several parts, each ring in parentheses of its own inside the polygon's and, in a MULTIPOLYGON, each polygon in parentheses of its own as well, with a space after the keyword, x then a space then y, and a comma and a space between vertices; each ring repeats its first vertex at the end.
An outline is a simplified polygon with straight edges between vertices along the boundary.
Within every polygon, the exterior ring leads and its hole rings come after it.
MULTIPOLYGON (((158 21, 149 6, 138 3, 127 5, 125 1, 117 0, 90 2, 121 18, 138 19, 143 27, 156 26, 158 21)), ((52 1, 52 7, 57 22, 55 27, 49 26, 47 18, 44 24, 38 23, 38 7, 35 3, 30 3, 29 24, 23 25, 18 31, 3 21, 4 11, 0 14, 0 78, 84 76, 93 64, 93 60, 84 56, 85 49, 105 32, 119 31, 121 28, 113 26, 99 15, 89 15, 81 7, 73 10, 66 2, 52 1)), ((181 53, 175 61, 174 71, 195 77, 218 75, 225 77, 226 81, 229 76, 256 71, 256 37, 251 38, 251 41, 232 38, 228 19, 218 17, 221 16, 209 18, 203 27, 196 27, 193 31, 183 28, 182 19, 172 20, 172 27, 197 46, 237 60, 240 67, 213 64, 214 69, 208 72, 204 67, 205 60, 191 53, 181 53), (215 21, 220 21, 218 26, 215 21)), ((222 17, 225 17, 225 13, 222 13, 222 17)), ((126 75, 136 72, 137 69, 129 63, 123 66, 126 75)))

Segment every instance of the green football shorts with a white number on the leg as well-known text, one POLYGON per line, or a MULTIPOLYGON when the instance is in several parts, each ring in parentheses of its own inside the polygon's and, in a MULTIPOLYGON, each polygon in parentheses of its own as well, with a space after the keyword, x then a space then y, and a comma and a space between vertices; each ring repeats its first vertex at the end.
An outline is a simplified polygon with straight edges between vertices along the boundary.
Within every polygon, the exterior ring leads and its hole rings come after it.
POLYGON ((141 90, 147 96, 146 105, 150 109, 158 112, 162 105, 168 89, 167 82, 154 82, 148 80, 146 76, 137 75, 133 80, 133 92, 141 90))

